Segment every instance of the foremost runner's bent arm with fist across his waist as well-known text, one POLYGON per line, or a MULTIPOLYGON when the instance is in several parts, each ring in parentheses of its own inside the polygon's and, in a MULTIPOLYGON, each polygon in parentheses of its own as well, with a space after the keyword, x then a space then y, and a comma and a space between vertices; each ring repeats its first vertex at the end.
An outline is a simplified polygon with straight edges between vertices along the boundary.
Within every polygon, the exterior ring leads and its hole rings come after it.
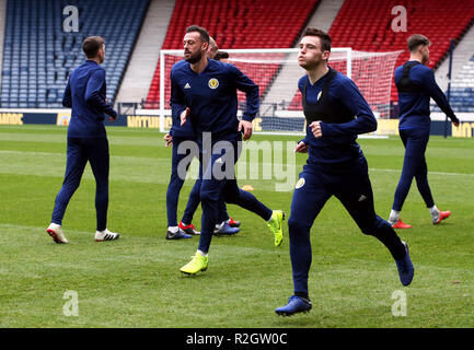
POLYGON ((372 132, 377 130, 377 119, 370 109, 366 98, 363 98, 356 84, 347 79, 336 85, 334 98, 337 103, 343 103, 355 116, 354 120, 343 124, 330 124, 323 121, 313 121, 320 124, 319 132, 314 132, 315 137, 338 137, 338 136, 354 136, 360 133, 372 132))

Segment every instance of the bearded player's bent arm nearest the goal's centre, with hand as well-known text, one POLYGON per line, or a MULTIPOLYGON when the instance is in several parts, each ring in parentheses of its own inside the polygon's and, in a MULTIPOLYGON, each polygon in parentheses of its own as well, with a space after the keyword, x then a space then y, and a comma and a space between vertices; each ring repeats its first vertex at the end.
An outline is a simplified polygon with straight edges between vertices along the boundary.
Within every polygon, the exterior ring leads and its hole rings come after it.
POLYGON ((246 106, 242 120, 239 122, 239 131, 243 130, 243 139, 248 140, 252 137, 252 120, 258 113, 259 107, 258 85, 232 65, 229 65, 229 72, 235 83, 235 88, 245 93, 246 106))

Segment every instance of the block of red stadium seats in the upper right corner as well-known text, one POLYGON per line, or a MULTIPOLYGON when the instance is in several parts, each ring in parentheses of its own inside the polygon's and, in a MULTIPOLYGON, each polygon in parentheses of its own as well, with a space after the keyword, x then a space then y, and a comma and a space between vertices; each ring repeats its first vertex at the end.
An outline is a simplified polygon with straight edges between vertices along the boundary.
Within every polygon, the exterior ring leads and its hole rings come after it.
MULTIPOLYGON (((448 56, 450 39, 459 40, 474 21, 474 0, 345 0, 330 30, 333 47, 352 47, 363 51, 404 50, 396 66, 407 60, 406 39, 415 33, 426 35, 432 43, 429 67, 436 69, 448 56), (392 31, 392 9, 407 9, 407 32, 392 31)), ((394 82, 392 101, 397 101, 394 82)), ((301 108, 298 94, 291 102, 301 108)))

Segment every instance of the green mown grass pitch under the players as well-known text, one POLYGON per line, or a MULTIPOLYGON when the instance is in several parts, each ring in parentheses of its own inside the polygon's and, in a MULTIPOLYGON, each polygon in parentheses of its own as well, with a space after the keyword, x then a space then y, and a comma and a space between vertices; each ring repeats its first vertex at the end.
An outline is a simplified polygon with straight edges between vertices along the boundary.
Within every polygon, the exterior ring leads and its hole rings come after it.
MULTIPOLYGON (((336 199, 311 230, 311 313, 278 317, 292 293, 288 226, 276 248, 265 222, 229 206, 242 221, 233 237, 213 237, 209 269, 180 273, 198 237, 166 241, 165 191, 171 149, 157 130, 108 128, 108 228, 116 242, 96 243, 95 183, 88 165, 63 220, 70 244, 45 233, 66 165, 66 128, 0 127, 0 327, 473 327, 474 139, 432 137, 427 150, 437 206, 453 213, 430 222, 415 183, 403 210, 412 230, 397 231, 411 247, 413 283, 400 283, 389 252, 361 234, 336 199), (65 292, 78 295, 78 316, 63 314, 65 292), (396 291, 406 316, 394 316, 396 291)), ((298 137, 255 135, 254 141, 298 137)), ((361 139, 379 215, 388 218, 403 147, 397 137, 361 139)), ((296 179, 305 162, 297 155, 296 179)), ((268 166, 268 160, 262 160, 268 166)), ((263 168, 262 168, 263 170, 263 168)), ((255 170, 252 170, 255 171, 255 170)), ((278 175, 278 174, 277 174, 278 175)), ((274 174, 275 176, 275 174, 274 174)), ((292 191, 278 179, 240 180, 273 209, 290 213, 292 191)), ((183 187, 178 218, 193 180, 183 187)), ((200 228, 200 208, 194 223, 200 228)))

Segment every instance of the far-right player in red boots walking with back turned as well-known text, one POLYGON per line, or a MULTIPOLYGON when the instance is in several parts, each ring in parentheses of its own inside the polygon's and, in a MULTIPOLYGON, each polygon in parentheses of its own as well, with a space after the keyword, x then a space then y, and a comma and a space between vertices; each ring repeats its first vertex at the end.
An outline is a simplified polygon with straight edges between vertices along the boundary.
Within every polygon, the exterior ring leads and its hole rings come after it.
POLYGON ((451 211, 440 211, 431 196, 428 184, 428 167, 425 151, 429 140, 430 109, 432 97, 442 112, 459 126, 459 119, 452 112, 448 100, 435 81, 435 73, 426 67, 429 61, 429 39, 420 34, 408 38, 409 60, 395 69, 395 84, 398 91, 400 137, 405 147, 405 159, 402 175, 395 190, 389 222, 395 229, 409 229, 412 225, 402 222, 400 212, 415 177, 419 194, 431 214, 433 224, 449 218, 451 211))

